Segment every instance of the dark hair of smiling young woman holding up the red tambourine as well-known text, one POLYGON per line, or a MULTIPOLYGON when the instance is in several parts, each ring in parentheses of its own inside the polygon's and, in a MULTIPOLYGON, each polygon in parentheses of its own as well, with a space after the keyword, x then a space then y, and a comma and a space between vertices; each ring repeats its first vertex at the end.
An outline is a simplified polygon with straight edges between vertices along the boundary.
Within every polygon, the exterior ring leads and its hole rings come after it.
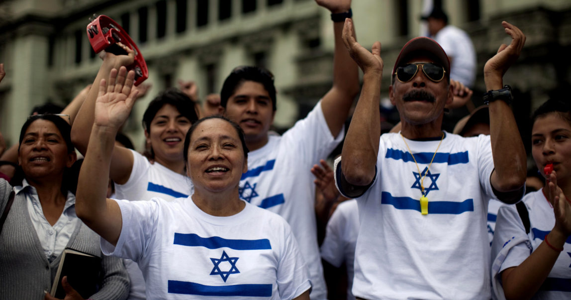
MULTIPOLYGON (((168 89, 160 93, 155 99, 148 103, 147 109, 143 114, 143 129, 147 133, 151 132, 151 122, 155 118, 156 113, 163 108, 164 105, 170 104, 178 110, 178 112, 186 117, 188 121, 194 123, 198 120, 198 115, 195 110, 195 103, 192 99, 188 98, 186 94, 177 89, 168 89)), ((151 157, 155 157, 155 152, 151 146, 151 157)))

